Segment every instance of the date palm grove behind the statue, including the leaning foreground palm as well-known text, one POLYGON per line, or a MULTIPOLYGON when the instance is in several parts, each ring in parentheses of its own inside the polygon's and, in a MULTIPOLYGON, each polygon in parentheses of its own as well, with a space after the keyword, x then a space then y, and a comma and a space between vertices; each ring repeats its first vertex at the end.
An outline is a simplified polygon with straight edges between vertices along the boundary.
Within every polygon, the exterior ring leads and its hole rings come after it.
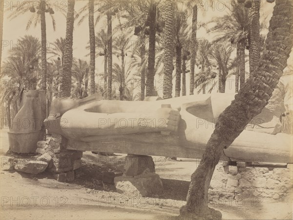
MULTIPOLYGON (((76 12, 75 1, 68 0, 66 34, 56 40, 53 49, 44 44, 46 22, 53 22, 55 27, 55 11, 48 2, 41 0, 28 11, 19 10, 8 16, 14 19, 31 13, 27 29, 40 23, 41 40, 29 35, 21 37, 20 41, 36 44, 29 49, 11 49, 3 62, 1 78, 9 77, 16 86, 3 91, 2 118, 10 124, 10 118, 19 110, 24 89, 46 90, 48 109, 53 97, 84 98, 95 92, 108 100, 144 100, 145 96, 158 94, 156 76, 163 78, 163 98, 184 96, 188 90, 191 95, 194 91, 224 93, 227 79, 235 75, 238 94, 216 123, 203 162, 191 176, 187 205, 180 212, 183 218, 220 218, 218 212, 205 205, 209 182, 222 149, 229 147, 265 107, 287 66, 292 48, 292 1, 275 1, 269 32, 262 36, 265 24, 260 22, 260 8, 274 0, 233 0, 226 5, 226 15, 209 23, 201 22, 199 17, 200 9, 205 9, 199 4, 205 1, 146 0, 122 6, 88 0, 76 12), (73 58, 74 25, 84 22, 89 27, 89 33, 83 36, 88 39, 89 62, 73 58), (101 23, 104 29, 97 29, 101 23), (209 27, 207 32, 216 36, 213 41, 198 36, 201 27, 209 27), (130 46, 131 39, 136 40, 130 46), (104 66, 95 66, 97 57, 104 60, 104 66), (103 86, 95 81, 98 78, 104 80, 103 86), (133 87, 127 86, 134 79, 140 82, 136 94, 133 87), (117 89, 112 88, 113 82, 117 89), (245 122, 243 127, 230 123, 237 120, 245 122)), ((209 0, 210 5, 216 5, 213 2, 209 0)))

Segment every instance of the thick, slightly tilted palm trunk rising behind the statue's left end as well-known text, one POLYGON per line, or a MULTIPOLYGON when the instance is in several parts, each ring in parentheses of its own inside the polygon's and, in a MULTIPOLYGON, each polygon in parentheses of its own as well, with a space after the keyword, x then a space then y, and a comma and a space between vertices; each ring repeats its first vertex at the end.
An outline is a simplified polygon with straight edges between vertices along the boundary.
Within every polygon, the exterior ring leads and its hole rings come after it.
POLYGON ((73 24, 74 24, 74 4, 75 0, 68 0, 68 10, 66 16, 66 38, 63 60, 63 76, 60 89, 61 97, 69 97, 71 91, 71 67, 72 67, 72 44, 73 44, 73 24))

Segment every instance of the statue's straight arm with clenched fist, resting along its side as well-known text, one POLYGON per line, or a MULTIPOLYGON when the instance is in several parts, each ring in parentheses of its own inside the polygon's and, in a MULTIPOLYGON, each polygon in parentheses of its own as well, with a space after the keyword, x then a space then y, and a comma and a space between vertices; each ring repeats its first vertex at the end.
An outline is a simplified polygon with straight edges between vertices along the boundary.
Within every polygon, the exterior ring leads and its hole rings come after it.
POLYGON ((73 139, 92 135, 176 131, 179 111, 161 108, 152 113, 97 113, 73 109, 62 116, 63 133, 73 139))

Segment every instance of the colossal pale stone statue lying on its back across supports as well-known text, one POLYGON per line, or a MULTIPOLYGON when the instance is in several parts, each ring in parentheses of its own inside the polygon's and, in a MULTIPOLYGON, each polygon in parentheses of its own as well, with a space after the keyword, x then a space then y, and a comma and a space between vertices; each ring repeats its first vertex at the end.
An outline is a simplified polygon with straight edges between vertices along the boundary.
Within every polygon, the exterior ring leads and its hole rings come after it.
MULTIPOLYGON (((71 150, 200 158, 214 123, 234 95, 215 93, 148 102, 102 100, 98 94, 80 100, 61 98, 52 102, 45 124, 49 132, 66 137, 66 148, 71 150)), ((272 112, 264 109, 248 130, 272 119, 272 112)), ((291 135, 248 130, 227 146, 223 159, 293 163, 291 135)))

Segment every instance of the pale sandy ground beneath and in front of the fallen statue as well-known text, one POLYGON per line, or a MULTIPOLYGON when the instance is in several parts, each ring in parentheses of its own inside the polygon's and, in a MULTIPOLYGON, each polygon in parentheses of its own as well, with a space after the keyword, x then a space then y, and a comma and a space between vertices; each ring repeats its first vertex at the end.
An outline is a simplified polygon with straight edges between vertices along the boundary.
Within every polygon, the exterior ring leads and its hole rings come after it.
MULTIPOLYGON (((0 131, 0 154, 8 150, 7 130, 0 131)), ((186 203, 188 185, 198 161, 153 157, 156 173, 165 191, 152 198, 129 198, 118 194, 114 185, 101 181, 105 171, 122 171, 119 159, 85 152, 80 168, 83 176, 71 183, 51 179, 47 173, 29 175, 0 172, 0 219, 174 219, 186 203), (103 162, 102 162, 103 161, 103 162), (105 163, 105 161, 107 161, 105 163)), ((121 161, 121 160, 120 160, 121 161)), ((223 219, 292 219, 292 197, 278 201, 226 201, 211 203, 223 219)))

